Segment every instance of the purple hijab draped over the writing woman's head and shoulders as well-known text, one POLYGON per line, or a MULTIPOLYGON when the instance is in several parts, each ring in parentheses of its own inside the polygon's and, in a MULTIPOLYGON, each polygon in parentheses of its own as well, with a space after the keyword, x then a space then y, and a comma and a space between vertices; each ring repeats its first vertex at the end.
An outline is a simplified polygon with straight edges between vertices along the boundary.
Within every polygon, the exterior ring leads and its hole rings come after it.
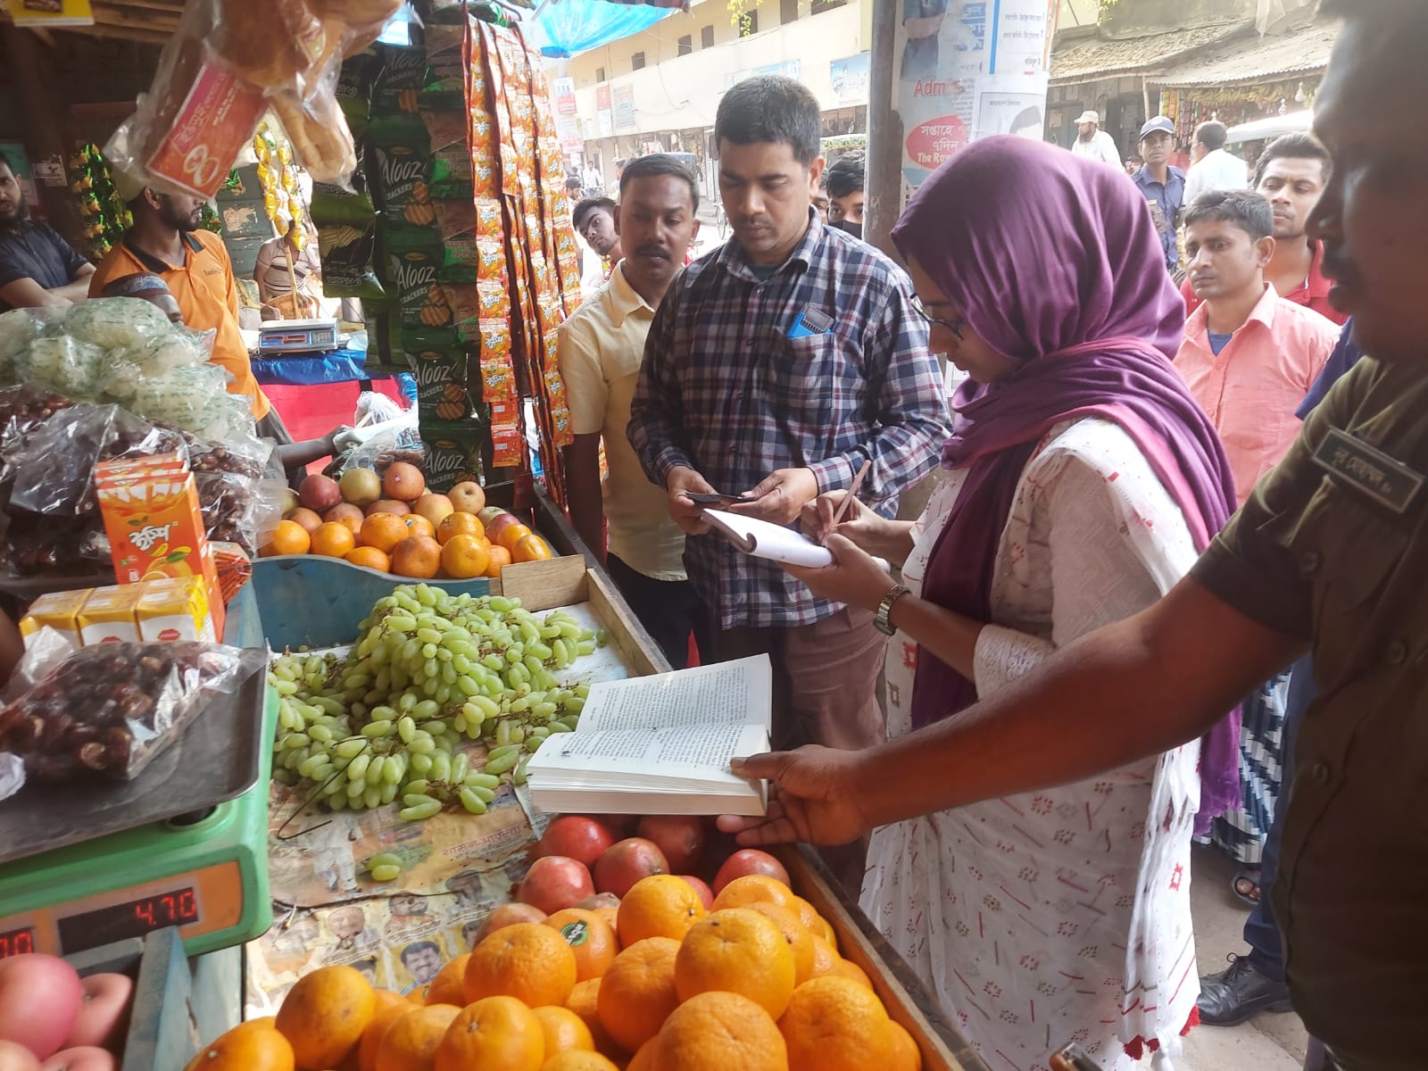
MULTIPOLYGON (((985 139, 922 183, 892 241, 972 331, 1024 361, 997 383, 964 383, 952 401, 942 466, 965 468, 967 481, 932 548, 924 597, 991 620, 997 547, 1021 471, 1047 430, 1072 417, 1121 426, 1205 548, 1234 510, 1234 483, 1220 436, 1171 366, 1185 304, 1125 176, 1040 141, 985 139)), ((914 727, 975 700, 971 681, 918 657, 914 727)), ((1240 803, 1238 748, 1235 710, 1201 745, 1198 828, 1240 803)))

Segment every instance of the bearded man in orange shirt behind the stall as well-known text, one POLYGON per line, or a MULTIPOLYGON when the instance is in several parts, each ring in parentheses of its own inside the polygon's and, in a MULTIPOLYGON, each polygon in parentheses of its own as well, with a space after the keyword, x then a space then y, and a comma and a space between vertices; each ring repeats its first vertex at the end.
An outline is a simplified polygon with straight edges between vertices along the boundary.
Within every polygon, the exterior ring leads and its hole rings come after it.
POLYGON ((223 240, 198 228, 203 201, 159 193, 120 171, 114 173, 114 186, 127 201, 134 226, 90 277, 90 297, 99 297, 109 283, 123 276, 153 273, 163 278, 178 301, 183 321, 198 331, 216 333, 208 360, 233 376, 228 393, 248 398, 258 434, 280 446, 291 443, 293 437, 253 378, 248 347, 238 331, 233 263, 223 240))

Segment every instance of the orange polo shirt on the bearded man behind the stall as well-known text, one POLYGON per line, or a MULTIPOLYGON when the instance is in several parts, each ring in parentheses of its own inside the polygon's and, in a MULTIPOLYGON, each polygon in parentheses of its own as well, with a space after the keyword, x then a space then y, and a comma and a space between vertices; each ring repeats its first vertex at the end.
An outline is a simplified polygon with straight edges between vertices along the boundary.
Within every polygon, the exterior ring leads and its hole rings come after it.
POLYGON ((90 297, 99 297, 111 281, 137 271, 161 276, 178 301, 184 324, 198 331, 217 331, 208 360, 228 370, 233 376, 228 393, 251 398, 253 418, 263 420, 273 406, 253 378, 248 347, 238 331, 238 290, 233 283, 228 250, 223 247, 223 238, 206 230, 190 231, 183 241, 187 251, 181 266, 151 257, 127 240, 119 243, 90 277, 90 297))

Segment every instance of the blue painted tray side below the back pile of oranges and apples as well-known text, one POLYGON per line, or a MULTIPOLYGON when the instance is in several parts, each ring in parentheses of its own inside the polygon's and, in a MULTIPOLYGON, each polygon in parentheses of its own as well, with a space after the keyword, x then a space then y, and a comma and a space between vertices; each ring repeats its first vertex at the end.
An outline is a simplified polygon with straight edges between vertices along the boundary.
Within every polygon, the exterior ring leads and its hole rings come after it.
MULTIPOLYGON (((314 554, 278 554, 253 563, 258 620, 274 651, 284 647, 336 647, 357 638, 357 624, 373 604, 400 584, 421 581, 314 554)), ((453 594, 487 595, 491 581, 428 580, 453 594)))

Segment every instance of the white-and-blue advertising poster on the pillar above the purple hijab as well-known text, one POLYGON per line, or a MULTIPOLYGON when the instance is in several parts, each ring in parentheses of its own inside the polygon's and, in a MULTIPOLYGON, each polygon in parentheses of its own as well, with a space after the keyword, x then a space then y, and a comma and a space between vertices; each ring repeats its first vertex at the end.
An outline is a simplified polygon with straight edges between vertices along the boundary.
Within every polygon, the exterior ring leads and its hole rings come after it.
POLYGON ((901 0, 895 100, 904 201, 978 137, 1040 140, 1055 0, 901 0))

